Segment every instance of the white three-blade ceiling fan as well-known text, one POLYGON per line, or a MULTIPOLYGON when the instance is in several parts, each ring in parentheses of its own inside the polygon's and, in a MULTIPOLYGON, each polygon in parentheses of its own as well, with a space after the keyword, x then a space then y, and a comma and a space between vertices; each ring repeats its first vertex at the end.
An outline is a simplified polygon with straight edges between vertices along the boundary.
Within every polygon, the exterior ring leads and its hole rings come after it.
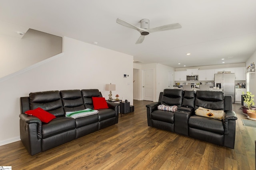
POLYGON ((124 25, 125 27, 136 29, 137 31, 140 32, 140 37, 136 41, 136 44, 142 43, 145 36, 148 35, 149 33, 157 32, 157 31, 166 31, 166 30, 169 30, 169 29, 181 28, 181 25, 179 23, 172 23, 172 24, 163 25, 163 26, 160 26, 160 27, 149 28, 149 20, 148 19, 140 20, 140 28, 136 27, 135 25, 132 25, 131 23, 128 23, 127 21, 121 20, 120 18, 117 18, 116 22, 121 24, 121 25, 124 25))

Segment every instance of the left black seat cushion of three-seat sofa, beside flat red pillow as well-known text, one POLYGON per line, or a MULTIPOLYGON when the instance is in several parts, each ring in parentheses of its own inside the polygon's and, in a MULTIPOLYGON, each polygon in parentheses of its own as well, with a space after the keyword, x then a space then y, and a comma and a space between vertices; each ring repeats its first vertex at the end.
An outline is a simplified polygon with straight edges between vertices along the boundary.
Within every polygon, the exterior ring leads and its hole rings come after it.
POLYGON ((57 117, 42 125, 42 139, 76 128, 75 119, 70 117, 57 117))

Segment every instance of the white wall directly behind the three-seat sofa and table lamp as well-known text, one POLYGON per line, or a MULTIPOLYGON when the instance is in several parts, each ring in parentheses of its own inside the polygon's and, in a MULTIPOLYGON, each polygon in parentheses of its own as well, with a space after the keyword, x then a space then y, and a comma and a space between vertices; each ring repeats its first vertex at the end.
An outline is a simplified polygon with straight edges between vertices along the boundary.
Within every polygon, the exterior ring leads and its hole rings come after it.
POLYGON ((0 78, 0 145, 20 140, 19 98, 30 92, 96 88, 108 98, 104 89, 111 82, 116 84, 113 96, 133 104, 132 56, 68 37, 63 43, 64 53, 0 78))

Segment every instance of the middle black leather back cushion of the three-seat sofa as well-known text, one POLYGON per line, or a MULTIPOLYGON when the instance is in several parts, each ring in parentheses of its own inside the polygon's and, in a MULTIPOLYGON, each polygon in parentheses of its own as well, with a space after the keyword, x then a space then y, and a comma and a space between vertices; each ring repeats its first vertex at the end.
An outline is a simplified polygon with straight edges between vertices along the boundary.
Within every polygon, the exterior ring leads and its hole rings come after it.
POLYGON ((61 90, 60 96, 65 112, 85 109, 81 90, 61 90))

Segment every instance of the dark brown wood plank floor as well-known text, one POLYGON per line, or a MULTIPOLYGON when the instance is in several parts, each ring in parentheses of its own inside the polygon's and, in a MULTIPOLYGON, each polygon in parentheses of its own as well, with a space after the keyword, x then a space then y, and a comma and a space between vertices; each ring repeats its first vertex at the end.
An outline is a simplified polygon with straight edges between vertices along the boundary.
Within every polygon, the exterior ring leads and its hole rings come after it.
POLYGON ((256 128, 244 126, 239 104, 233 104, 235 149, 148 127, 146 104, 134 100, 134 112, 116 125, 30 156, 20 141, 0 146, 0 166, 22 169, 92 170, 253 170, 256 128))

